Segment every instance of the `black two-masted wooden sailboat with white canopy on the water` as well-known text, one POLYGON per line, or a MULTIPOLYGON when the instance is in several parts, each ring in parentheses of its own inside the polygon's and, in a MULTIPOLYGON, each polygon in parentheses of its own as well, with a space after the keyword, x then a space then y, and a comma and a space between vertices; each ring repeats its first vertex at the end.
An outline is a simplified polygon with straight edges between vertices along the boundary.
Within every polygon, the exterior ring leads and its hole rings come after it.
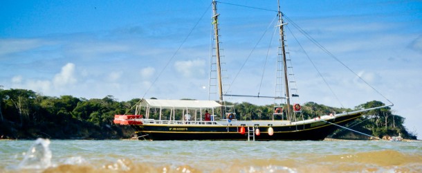
MULTIPOLYGON (((114 123, 130 125, 139 139, 145 140, 324 140, 336 129, 363 116, 363 113, 389 107, 386 105, 358 111, 330 113, 309 120, 296 120, 293 113, 300 113, 300 104, 291 105, 289 93, 286 51, 284 45, 283 14, 278 3, 278 24, 281 58, 284 72, 284 96, 273 98, 285 100, 286 104, 274 106, 274 116, 286 115, 281 120, 239 120, 232 105, 226 105, 224 97, 248 97, 223 92, 217 1, 212 1, 212 25, 214 30, 215 59, 217 64, 217 88, 219 100, 158 100, 142 99, 136 105, 135 115, 116 115, 114 123)), ((263 97, 263 96, 257 96, 263 97)))

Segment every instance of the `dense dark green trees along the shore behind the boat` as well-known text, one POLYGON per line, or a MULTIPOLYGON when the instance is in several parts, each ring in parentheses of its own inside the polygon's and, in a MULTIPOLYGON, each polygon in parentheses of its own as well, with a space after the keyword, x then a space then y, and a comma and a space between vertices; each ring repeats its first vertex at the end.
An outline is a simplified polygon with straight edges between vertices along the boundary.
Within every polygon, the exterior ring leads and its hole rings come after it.
MULTIPOLYGON (((134 137, 134 129, 114 125, 113 118, 114 115, 134 114, 131 108, 139 101, 139 98, 134 98, 118 102, 112 95, 89 100, 72 95, 51 97, 26 89, 0 88, 0 139, 131 139, 134 137)), ((272 104, 241 102, 234 105, 239 120, 270 120, 274 111, 272 104)), ((345 109, 306 102, 302 105, 302 113, 296 118, 307 120, 329 113, 382 105, 383 102, 374 100, 353 109, 345 109)), ((387 107, 368 111, 346 127, 378 138, 401 136, 407 140, 416 140, 416 133, 408 131, 403 125, 404 121, 403 116, 395 115, 387 107)), ((340 128, 326 140, 369 140, 369 137, 340 128)))

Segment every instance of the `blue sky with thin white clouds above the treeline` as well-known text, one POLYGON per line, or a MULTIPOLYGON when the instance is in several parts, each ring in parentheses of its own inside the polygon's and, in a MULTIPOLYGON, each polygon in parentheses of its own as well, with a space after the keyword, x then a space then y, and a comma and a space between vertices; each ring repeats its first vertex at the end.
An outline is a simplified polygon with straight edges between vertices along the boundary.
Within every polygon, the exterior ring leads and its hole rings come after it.
MULTIPOLYGON (((277 1, 220 2, 225 89, 274 95, 277 1)), ((193 0, 1 1, 0 85, 57 97, 208 100, 210 5, 193 0)), ((407 129, 421 138, 422 1, 282 1, 281 8, 288 18, 286 44, 300 94, 294 102, 354 108, 371 100, 391 101, 394 114, 405 117, 407 129)))

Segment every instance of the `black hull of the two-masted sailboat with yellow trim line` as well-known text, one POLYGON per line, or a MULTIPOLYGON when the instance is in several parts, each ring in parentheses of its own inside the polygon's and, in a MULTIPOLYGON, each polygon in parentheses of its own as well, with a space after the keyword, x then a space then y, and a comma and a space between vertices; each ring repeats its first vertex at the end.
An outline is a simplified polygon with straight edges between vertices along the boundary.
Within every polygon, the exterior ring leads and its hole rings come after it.
MULTIPOLYGON (((316 120, 301 125, 271 125, 257 126, 260 135, 255 135, 255 140, 324 140, 333 131, 340 128, 336 125, 345 125, 362 113, 341 116, 327 121, 316 120), (336 125, 333 125, 336 124, 336 125), (273 135, 268 134, 269 127, 273 128, 273 135)), ((163 125, 145 124, 131 125, 136 129, 140 139, 149 140, 248 140, 248 127, 246 133, 239 133, 241 126, 228 125, 163 125)), ((252 129, 252 127, 250 127, 252 129)), ((250 131, 253 133, 253 131, 250 131)), ((253 137, 250 137, 253 140, 253 137)))

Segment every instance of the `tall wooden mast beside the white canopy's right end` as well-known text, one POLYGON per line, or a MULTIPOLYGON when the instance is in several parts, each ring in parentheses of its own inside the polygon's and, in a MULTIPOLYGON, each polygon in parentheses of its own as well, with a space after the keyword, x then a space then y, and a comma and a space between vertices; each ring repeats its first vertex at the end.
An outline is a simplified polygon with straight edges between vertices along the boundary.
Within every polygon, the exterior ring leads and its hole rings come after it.
POLYGON ((215 51, 217 59, 217 81, 219 86, 219 102, 223 102, 223 84, 221 82, 221 64, 220 64, 220 46, 219 46, 219 28, 218 28, 218 17, 217 14, 217 1, 212 1, 212 24, 214 24, 214 39, 215 39, 215 51))

